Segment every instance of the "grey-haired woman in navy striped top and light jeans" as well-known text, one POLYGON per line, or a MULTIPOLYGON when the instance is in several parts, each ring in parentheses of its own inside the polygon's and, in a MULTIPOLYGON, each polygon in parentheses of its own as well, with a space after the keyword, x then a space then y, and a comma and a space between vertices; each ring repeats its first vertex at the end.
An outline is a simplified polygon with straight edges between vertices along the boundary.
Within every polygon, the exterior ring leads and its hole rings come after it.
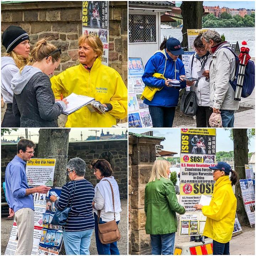
POLYGON ((86 169, 84 160, 81 158, 70 159, 67 169, 71 181, 62 187, 59 199, 55 196, 51 196, 50 199, 55 203, 58 210, 63 210, 68 206, 69 196, 70 202, 74 196, 67 223, 63 226, 66 255, 90 255, 89 246, 94 230, 94 217, 92 215, 94 188, 84 178, 86 169))

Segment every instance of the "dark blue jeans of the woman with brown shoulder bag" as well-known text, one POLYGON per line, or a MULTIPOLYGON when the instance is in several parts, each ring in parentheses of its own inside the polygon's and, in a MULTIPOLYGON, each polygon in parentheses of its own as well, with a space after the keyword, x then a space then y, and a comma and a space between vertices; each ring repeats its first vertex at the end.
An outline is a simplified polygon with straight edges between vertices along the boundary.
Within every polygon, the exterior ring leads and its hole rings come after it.
MULTIPOLYGON (((96 246, 98 255, 120 255, 119 250, 117 248, 117 242, 113 242, 111 244, 102 244, 99 237, 98 237, 98 216, 94 213, 94 220, 95 220, 95 238, 96 238, 96 246)), ((100 224, 106 223, 103 222, 100 218, 100 224)), ((116 222, 119 223, 119 220, 116 222)))

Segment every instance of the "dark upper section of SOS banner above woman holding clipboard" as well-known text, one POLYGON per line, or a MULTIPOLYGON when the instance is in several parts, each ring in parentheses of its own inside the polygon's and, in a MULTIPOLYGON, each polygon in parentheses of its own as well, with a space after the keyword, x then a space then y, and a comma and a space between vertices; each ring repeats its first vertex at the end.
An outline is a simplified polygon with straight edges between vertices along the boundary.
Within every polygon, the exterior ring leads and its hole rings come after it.
POLYGON ((83 1, 82 26, 108 28, 108 1, 83 1))

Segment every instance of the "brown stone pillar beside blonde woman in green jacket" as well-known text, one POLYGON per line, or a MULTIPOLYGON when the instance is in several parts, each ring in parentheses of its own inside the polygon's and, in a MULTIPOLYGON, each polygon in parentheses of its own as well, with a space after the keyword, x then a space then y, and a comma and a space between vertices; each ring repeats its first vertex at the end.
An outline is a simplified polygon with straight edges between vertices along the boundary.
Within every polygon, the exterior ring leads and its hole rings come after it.
POLYGON ((151 254, 150 236, 145 232, 144 190, 148 183, 155 145, 164 137, 129 133, 129 254, 151 254))

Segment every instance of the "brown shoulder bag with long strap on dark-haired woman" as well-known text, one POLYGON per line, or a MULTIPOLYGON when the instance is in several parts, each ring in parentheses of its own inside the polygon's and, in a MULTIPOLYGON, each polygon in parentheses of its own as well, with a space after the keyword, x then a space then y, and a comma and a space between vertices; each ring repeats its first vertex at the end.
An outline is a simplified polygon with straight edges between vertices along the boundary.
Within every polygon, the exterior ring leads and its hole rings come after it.
MULTIPOLYGON (((111 192, 112 192, 112 201, 113 201, 113 208, 114 208, 114 192, 111 183, 108 180, 107 181, 110 184, 111 192)), ((98 210, 98 237, 102 244, 111 244, 112 242, 116 242, 120 240, 121 234, 119 232, 117 223, 116 223, 116 214, 114 210, 114 219, 110 222, 102 223, 100 224, 100 210, 98 210)))

